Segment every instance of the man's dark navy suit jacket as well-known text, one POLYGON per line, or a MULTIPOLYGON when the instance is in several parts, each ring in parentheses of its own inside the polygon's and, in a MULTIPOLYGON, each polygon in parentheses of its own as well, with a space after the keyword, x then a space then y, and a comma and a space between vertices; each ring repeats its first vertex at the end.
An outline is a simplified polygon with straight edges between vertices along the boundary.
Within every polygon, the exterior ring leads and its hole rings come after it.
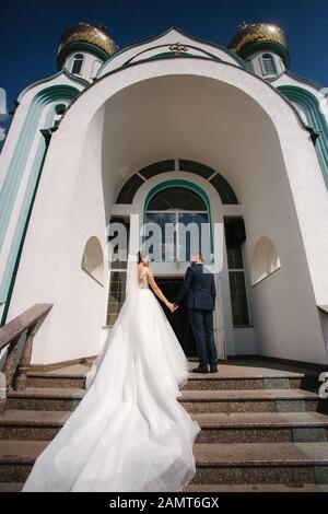
POLYGON ((201 262, 187 269, 185 280, 174 303, 180 305, 186 300, 187 308, 213 311, 215 308, 215 295, 214 276, 204 269, 201 262))

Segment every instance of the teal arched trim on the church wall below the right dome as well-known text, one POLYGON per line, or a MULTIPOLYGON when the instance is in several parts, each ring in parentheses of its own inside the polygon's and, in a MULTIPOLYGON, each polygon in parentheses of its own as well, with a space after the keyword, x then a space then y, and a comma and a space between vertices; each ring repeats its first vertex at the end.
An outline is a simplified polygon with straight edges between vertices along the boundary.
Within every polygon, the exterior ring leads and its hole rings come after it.
POLYGON ((300 105, 305 112, 308 125, 320 130, 315 142, 317 157, 328 189, 328 125, 320 113, 318 100, 307 90, 296 85, 279 85, 277 87, 290 102, 300 105))

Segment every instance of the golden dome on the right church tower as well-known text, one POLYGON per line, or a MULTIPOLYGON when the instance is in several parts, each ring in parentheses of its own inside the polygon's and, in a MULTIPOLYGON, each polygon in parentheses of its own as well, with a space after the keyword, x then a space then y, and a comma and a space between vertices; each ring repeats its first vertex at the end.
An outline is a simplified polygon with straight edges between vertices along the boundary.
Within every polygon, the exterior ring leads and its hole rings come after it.
POLYGON ((236 52, 243 54, 246 52, 248 47, 256 43, 269 43, 281 45, 282 54, 288 54, 288 42, 285 33, 278 25, 271 23, 242 23, 239 25, 239 32, 229 44, 229 48, 236 52))

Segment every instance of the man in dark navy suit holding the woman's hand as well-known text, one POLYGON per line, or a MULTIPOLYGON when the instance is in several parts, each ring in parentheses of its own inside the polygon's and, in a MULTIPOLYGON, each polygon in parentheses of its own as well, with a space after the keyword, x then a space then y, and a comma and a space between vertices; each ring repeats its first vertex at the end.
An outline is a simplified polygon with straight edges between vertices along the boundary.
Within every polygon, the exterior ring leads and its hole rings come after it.
POLYGON ((194 373, 218 372, 218 355, 213 334, 213 309, 215 308, 214 276, 203 267, 200 252, 190 258, 183 285, 174 301, 178 308, 187 295, 186 306, 188 317, 196 339, 199 365, 194 373))

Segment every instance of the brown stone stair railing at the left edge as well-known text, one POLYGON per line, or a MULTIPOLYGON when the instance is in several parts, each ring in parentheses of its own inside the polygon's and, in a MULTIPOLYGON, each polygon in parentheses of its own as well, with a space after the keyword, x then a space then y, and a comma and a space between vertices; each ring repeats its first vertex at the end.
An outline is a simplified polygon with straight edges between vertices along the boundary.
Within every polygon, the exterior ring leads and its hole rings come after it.
POLYGON ((26 386, 34 335, 51 308, 50 303, 36 303, 0 328, 0 353, 4 359, 0 373, 0 413, 5 409, 7 392, 26 386))

